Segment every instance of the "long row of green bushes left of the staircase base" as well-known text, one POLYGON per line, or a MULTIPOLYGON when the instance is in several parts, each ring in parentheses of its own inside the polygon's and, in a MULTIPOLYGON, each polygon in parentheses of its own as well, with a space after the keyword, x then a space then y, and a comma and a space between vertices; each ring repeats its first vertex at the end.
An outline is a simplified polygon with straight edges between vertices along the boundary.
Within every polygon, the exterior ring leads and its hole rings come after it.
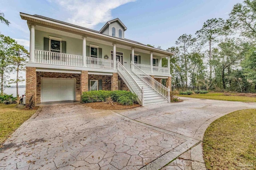
POLYGON ((127 92, 125 90, 114 90, 114 91, 90 91, 83 92, 82 94, 82 103, 92 103, 92 102, 106 102, 106 98, 111 97, 113 102, 118 102, 120 97, 127 97, 131 101, 136 101, 137 96, 132 92, 127 92))

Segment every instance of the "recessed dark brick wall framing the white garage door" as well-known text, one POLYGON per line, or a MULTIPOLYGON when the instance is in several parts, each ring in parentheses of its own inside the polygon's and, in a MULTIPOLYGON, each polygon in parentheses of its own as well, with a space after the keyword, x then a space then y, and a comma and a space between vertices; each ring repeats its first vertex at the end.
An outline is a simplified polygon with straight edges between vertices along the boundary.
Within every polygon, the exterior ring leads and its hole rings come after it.
POLYGON ((61 73, 61 72, 36 72, 36 102, 41 102, 41 78, 75 78, 76 79, 76 100, 80 101, 81 74, 75 73, 61 73))

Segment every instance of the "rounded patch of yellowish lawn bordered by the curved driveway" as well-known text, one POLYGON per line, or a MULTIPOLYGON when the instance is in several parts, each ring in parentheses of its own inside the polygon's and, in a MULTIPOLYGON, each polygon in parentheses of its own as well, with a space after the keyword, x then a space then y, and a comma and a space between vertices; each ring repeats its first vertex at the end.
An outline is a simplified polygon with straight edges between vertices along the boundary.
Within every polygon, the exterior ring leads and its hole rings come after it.
POLYGON ((256 169, 256 109, 234 111, 214 121, 204 133, 209 170, 256 169))

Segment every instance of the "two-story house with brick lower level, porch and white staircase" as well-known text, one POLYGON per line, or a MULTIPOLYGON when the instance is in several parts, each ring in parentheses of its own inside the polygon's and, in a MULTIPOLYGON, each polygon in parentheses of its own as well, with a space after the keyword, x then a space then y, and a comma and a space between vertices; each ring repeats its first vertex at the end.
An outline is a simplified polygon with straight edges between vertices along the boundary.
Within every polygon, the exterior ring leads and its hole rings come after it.
POLYGON ((100 31, 20 13, 30 29, 30 59, 26 63, 26 106, 77 100, 90 90, 130 90, 144 106, 170 102, 168 51, 125 38, 118 18, 100 31), (168 57, 168 67, 162 58, 168 57), (166 87, 162 85, 166 79, 166 87))

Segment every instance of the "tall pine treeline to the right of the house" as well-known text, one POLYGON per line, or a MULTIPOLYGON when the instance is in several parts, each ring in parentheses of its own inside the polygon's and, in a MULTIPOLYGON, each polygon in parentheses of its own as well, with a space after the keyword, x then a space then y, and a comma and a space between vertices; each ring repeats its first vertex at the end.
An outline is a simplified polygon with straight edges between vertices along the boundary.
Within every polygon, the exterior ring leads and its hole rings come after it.
POLYGON ((181 35, 176 47, 167 49, 175 53, 170 59, 172 86, 256 92, 255 40, 256 0, 245 0, 227 20, 207 20, 194 35, 181 35))

